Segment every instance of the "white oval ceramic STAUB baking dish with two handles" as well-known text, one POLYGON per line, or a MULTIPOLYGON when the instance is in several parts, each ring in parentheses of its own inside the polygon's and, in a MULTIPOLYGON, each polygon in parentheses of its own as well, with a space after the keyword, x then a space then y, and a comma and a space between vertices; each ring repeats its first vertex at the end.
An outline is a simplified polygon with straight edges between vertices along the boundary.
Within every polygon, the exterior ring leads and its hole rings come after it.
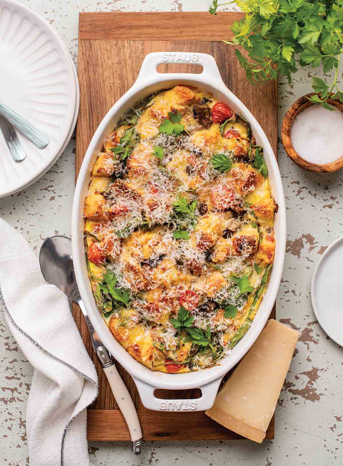
POLYGON ((97 331, 99 337, 110 353, 134 378, 144 406, 148 409, 157 411, 203 411, 210 408, 214 403, 222 377, 246 354, 251 345, 255 342, 256 338, 260 335, 268 320, 281 281, 286 247, 285 202, 282 190, 282 181, 275 155, 259 123, 257 123, 256 119, 242 104, 242 102, 225 86, 215 59, 211 55, 181 52, 156 52, 145 57, 135 84, 118 100, 117 103, 114 104, 111 110, 109 110, 108 114, 95 131, 87 149, 74 194, 72 213, 72 246, 76 280, 89 318, 94 325, 94 329, 97 331), (203 71, 201 74, 158 73, 156 71, 157 65, 168 61, 200 64, 203 67, 203 71), (93 164, 98 152, 102 148, 104 137, 113 130, 114 125, 118 122, 119 118, 130 109, 130 106, 156 90, 169 89, 176 84, 187 84, 211 92, 219 101, 228 103, 235 112, 239 113, 249 121, 252 132, 256 138, 256 144, 263 147, 264 159, 269 170, 271 191, 279 206, 279 211, 275 216, 274 224, 276 238, 275 261, 271 269, 267 291, 248 333, 232 349, 231 355, 222 359, 219 365, 207 370, 198 370, 185 374, 167 374, 152 371, 136 361, 126 351, 126 349, 116 341, 104 322, 94 301, 87 275, 87 264, 85 260, 83 241, 84 199, 93 164), (154 396, 156 388, 169 390, 200 388, 202 391, 202 397, 195 400, 161 400, 154 396))

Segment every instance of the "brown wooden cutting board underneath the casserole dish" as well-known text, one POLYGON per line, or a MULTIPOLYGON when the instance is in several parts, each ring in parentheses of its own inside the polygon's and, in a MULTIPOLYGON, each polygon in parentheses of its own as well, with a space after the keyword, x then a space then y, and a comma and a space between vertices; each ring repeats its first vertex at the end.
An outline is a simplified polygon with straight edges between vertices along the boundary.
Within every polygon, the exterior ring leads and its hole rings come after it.
MULTIPOLYGON (((213 55, 229 89, 248 107, 277 150, 277 87, 268 82, 252 86, 235 57, 235 48, 223 43, 232 37, 229 26, 241 13, 81 13, 79 17, 78 75, 80 112, 76 129, 76 178, 88 144, 108 110, 133 85, 145 55, 150 52, 202 52, 213 55)), ((160 65, 161 72, 195 72, 194 65, 160 65)), ((93 353, 88 329, 77 305, 75 322, 97 368, 99 397, 89 407, 88 440, 129 440, 125 420, 119 411, 101 365, 93 353)), ((272 315, 275 317, 275 309, 272 315)), ((117 364, 138 410, 145 440, 239 439, 203 411, 148 411, 141 404, 132 378, 117 364)), ((177 377, 177 376, 176 376, 177 377)), ((185 391, 185 398, 196 397, 185 391)), ((160 390, 161 398, 180 398, 180 392, 160 390)), ((274 438, 274 418, 267 439, 274 438)))

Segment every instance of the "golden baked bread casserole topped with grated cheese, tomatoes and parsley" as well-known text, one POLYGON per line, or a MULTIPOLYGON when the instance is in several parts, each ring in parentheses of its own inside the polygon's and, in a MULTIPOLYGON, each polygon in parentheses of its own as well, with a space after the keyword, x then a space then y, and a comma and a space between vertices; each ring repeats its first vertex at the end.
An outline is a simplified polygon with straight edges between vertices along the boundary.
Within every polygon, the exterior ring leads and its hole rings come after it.
POLYGON ((228 355, 255 317, 274 260, 276 204, 256 168, 255 138, 237 114, 213 123, 215 103, 177 85, 123 117, 104 140, 85 199, 99 311, 118 342, 152 370, 188 372, 228 355), (208 109, 206 126, 197 105, 208 109), (181 117, 179 135, 160 131, 173 115, 181 117), (224 137, 230 131, 234 137, 224 137), (229 158, 229 170, 215 169, 215 154, 229 158), (185 212, 177 212, 180 199, 185 212), (193 318, 188 327, 175 324, 181 306, 193 318), (189 329, 210 344, 197 344, 189 329))

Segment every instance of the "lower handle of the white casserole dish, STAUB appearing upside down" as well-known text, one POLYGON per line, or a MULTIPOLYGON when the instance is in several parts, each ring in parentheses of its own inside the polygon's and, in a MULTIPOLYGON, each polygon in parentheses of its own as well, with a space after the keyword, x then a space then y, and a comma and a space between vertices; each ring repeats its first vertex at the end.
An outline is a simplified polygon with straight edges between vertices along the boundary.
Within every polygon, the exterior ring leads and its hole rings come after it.
MULTIPOLYGON (((172 376, 175 377, 175 376, 172 376)), ((177 377, 177 376, 176 376, 177 377)), ((209 382, 205 385, 200 385, 202 396, 196 399, 161 399, 156 398, 154 391, 158 387, 146 384, 134 377, 135 384, 141 397, 143 405, 153 411, 205 411, 211 408, 215 402, 219 384, 222 381, 222 377, 215 379, 213 382, 209 382)))

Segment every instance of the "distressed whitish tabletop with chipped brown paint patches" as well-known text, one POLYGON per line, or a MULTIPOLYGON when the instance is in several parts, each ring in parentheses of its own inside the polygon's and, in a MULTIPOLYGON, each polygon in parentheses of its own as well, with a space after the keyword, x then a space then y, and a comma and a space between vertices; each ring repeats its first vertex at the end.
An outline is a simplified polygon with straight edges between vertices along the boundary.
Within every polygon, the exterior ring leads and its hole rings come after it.
MULTIPOLYGON (((24 0, 22 3, 53 25, 76 64, 80 11, 205 11, 211 1, 24 0)), ((332 76, 315 71, 331 81, 332 76)), ((279 135, 289 105, 311 91, 312 73, 310 68, 299 71, 292 86, 282 78, 279 80, 279 135)), ((278 320, 298 329, 301 337, 276 407, 275 439, 262 445, 249 440, 145 442, 144 453, 137 458, 128 443, 92 442, 89 453, 94 465, 343 464, 343 350, 320 328, 310 301, 310 281, 316 263, 326 247, 342 236, 343 170, 328 175, 312 174, 291 162, 281 142, 278 151, 286 196, 288 241, 276 313, 278 320)), ((23 233, 37 254, 47 236, 70 235, 74 152, 75 137, 39 181, 0 199, 1 218, 23 233)), ((3 309, 0 367, 0 464, 28 465, 25 412, 32 367, 9 332, 3 309)))

